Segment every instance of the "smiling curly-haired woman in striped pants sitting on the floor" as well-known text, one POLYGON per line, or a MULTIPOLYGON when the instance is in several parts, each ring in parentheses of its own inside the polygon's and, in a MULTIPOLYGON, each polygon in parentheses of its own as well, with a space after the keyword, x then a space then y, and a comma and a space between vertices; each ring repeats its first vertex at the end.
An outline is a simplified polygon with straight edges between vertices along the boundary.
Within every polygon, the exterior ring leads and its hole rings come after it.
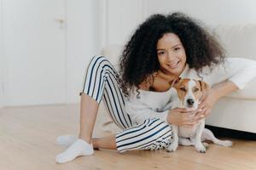
POLYGON ((93 148, 119 152, 166 148, 172 143, 169 124, 195 125, 219 98, 244 88, 256 76, 255 61, 224 59, 215 37, 180 13, 154 14, 143 22, 125 45, 119 66, 118 74, 108 59, 91 59, 81 93, 79 139, 58 139, 69 147, 56 156, 57 162, 90 156, 93 148), (173 100, 172 83, 178 77, 201 78, 212 85, 201 98, 199 109, 163 110, 173 100), (123 131, 91 139, 102 99, 123 131))

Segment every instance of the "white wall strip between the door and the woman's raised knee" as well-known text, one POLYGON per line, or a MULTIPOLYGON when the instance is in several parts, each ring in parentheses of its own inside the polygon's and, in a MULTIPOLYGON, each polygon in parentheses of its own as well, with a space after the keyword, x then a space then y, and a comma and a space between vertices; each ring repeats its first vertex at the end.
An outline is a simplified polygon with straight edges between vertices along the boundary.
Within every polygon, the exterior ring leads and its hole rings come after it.
POLYGON ((67 0, 67 103, 79 101, 85 67, 100 54, 98 6, 95 0, 67 0))

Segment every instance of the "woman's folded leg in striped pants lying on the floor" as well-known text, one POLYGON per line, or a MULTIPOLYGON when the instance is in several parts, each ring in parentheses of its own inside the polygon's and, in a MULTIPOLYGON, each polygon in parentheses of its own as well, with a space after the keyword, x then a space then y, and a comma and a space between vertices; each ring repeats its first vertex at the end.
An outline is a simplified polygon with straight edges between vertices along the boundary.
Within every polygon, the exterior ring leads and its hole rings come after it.
POLYGON ((143 124, 129 127, 118 134, 100 139, 92 139, 97 149, 119 150, 159 150, 167 148, 172 141, 172 128, 159 119, 148 119, 143 124))

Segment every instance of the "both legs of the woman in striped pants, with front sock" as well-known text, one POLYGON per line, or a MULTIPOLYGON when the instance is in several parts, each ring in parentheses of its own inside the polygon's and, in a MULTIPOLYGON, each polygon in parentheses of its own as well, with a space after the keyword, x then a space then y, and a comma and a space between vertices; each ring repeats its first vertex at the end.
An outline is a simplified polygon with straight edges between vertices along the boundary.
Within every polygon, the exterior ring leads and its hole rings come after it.
POLYGON ((98 148, 126 150, 156 150, 166 147, 172 136, 171 127, 166 122, 147 120, 133 126, 125 112, 124 95, 113 66, 104 57, 94 57, 88 67, 81 98, 80 134, 75 143, 56 157, 59 163, 72 161, 76 156, 93 154, 92 141, 98 148), (104 99, 108 113, 123 132, 102 139, 91 140, 96 121, 98 104, 104 99))

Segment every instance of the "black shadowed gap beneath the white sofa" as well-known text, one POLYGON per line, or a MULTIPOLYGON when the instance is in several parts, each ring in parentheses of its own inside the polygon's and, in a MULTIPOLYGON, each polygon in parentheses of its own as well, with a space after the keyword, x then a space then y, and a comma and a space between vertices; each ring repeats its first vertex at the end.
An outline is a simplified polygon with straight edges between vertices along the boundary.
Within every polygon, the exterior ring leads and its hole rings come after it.
POLYGON ((233 130, 223 127, 213 127, 206 125, 206 128, 210 129, 217 137, 227 137, 232 139, 247 139, 247 140, 256 140, 256 133, 248 133, 238 130, 233 130))

